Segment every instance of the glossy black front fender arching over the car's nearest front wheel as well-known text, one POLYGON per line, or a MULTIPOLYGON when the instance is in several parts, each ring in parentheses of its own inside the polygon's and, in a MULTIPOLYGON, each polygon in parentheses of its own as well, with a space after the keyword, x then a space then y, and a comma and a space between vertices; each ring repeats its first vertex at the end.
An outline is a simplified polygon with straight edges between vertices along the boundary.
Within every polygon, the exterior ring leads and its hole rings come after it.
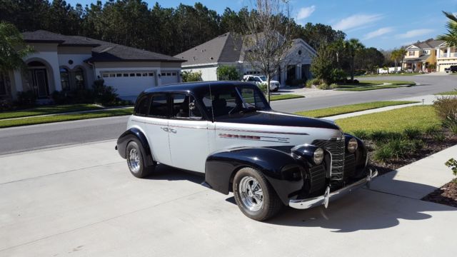
POLYGON ((284 204, 290 193, 303 187, 303 163, 291 153, 273 148, 233 148, 211 154, 206 159, 205 183, 228 194, 234 174, 243 167, 263 173, 284 204))

